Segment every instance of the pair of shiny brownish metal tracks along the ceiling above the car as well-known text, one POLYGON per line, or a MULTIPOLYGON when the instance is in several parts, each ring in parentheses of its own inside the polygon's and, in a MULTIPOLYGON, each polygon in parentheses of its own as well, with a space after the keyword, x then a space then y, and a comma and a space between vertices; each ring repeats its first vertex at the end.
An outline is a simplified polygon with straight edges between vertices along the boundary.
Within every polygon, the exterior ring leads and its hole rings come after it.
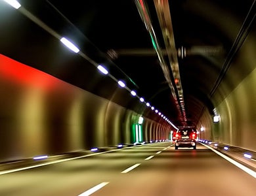
POLYGON ((142 21, 146 25, 146 29, 150 33, 154 50, 156 50, 156 53, 158 54, 158 59, 160 60, 161 69, 163 70, 165 80, 167 81, 167 84, 169 85, 173 98, 175 99, 175 102, 177 104, 179 115, 183 118, 184 122, 186 122, 187 118, 186 118, 186 111, 184 107, 181 78, 179 74, 177 50, 175 48, 175 41, 173 36, 173 26, 171 24, 171 14, 169 11, 169 3, 167 0, 165 1, 154 0, 156 12, 158 14, 158 20, 160 22, 163 39, 165 42, 167 56, 169 58, 170 67, 167 65, 167 63, 165 63, 165 59, 163 58, 164 54, 158 44, 157 37, 154 33, 154 28, 150 19, 149 10, 146 6, 146 3, 143 0, 135 0, 135 3, 137 5, 137 9, 139 10, 140 17, 142 18, 142 21), (175 80, 174 83, 171 80, 170 72, 172 73, 172 76, 175 80), (176 93, 175 89, 177 90, 178 94, 176 93))

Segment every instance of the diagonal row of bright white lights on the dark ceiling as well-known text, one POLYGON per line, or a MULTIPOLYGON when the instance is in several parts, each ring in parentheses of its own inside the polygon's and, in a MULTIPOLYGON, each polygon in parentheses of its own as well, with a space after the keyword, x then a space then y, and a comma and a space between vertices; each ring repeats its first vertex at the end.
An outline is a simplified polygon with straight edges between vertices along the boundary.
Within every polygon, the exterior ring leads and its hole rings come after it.
MULTIPOLYGON (((11 5, 12 7, 16 8, 16 9, 19 9, 21 7, 20 3, 16 0, 4 0, 5 2, 9 3, 9 5, 11 5)), ((35 21, 34 21, 35 22, 35 21)), ((37 20, 37 22, 39 22, 37 20)), ((38 23, 37 23, 38 24, 38 23)), ((42 26, 43 22, 40 21, 40 24, 42 26)), ((44 27, 46 27, 47 25, 43 24, 44 27)), ((48 27, 49 28, 49 27, 48 27)), ((54 32, 53 30, 51 32, 54 32)), ((137 97, 139 98, 140 102, 141 103, 145 103, 146 106, 150 107, 151 110, 154 110, 154 112, 156 112, 156 114, 158 114, 159 116, 161 116, 161 118, 163 118, 163 120, 165 120, 166 122, 168 122, 169 124, 171 124, 173 127, 175 127, 177 129, 177 127, 175 125, 173 125, 173 123, 166 117, 164 116, 163 114, 161 114, 161 112, 156 109, 154 106, 150 105, 150 103, 146 102, 144 100, 143 97, 139 97, 136 93, 135 90, 131 90, 129 89, 125 82, 123 80, 117 80, 117 78, 115 78, 114 76, 112 76, 112 74, 110 74, 108 72, 108 70, 106 69, 106 67, 102 66, 102 65, 98 65, 98 63, 96 63, 95 61, 91 60, 89 57, 87 57, 85 54, 83 54, 79 48, 77 46, 75 46, 75 44, 73 44, 71 41, 69 41, 68 39, 66 39, 65 37, 60 37, 60 35, 56 36, 56 33, 52 33, 54 34, 55 37, 59 37, 60 38, 60 41, 65 45, 67 46, 70 50, 72 50, 73 52, 77 53, 77 54, 80 54, 82 57, 85 57, 87 60, 89 60, 93 65, 95 65, 97 67, 97 69, 105 74, 105 75, 108 75, 110 76, 110 78, 112 78, 113 80, 115 80, 117 82, 117 84, 121 87, 121 88, 125 88, 125 90, 128 90, 131 95, 133 95, 133 97, 137 97)))

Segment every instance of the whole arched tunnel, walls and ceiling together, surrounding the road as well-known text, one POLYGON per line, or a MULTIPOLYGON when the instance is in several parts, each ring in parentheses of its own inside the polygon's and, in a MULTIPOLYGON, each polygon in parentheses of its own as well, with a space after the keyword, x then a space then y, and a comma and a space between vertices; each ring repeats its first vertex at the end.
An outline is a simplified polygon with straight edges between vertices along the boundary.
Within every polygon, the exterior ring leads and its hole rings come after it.
POLYGON ((180 127, 256 154, 255 0, 12 3, 0 1, 2 165, 173 144, 180 127))

